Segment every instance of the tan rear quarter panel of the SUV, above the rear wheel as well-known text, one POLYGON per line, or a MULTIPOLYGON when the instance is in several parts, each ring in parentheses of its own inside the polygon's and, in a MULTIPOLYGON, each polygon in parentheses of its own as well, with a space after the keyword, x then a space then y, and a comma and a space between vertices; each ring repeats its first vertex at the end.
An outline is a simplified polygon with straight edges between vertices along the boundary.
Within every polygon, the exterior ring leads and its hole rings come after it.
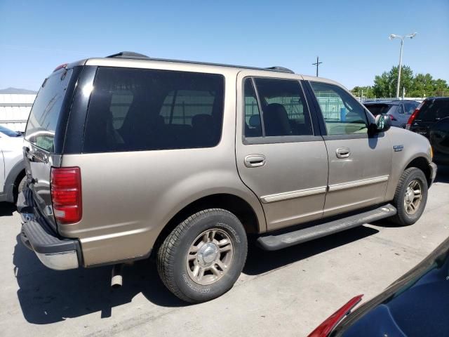
POLYGON ((178 211, 210 194, 245 199, 264 230, 260 202, 236 171, 236 70, 224 74, 225 113, 216 147, 63 155, 62 166, 81 168, 83 216, 58 230, 80 239, 84 265, 147 255, 178 211))

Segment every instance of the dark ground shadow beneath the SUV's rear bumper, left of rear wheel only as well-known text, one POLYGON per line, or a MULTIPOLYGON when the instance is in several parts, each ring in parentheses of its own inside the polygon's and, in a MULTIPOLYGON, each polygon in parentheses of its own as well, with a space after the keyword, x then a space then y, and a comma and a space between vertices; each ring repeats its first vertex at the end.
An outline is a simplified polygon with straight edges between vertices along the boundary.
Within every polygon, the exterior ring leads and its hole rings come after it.
POLYGON ((16 239, 13 263, 20 287, 18 299, 27 322, 49 324, 92 312, 110 317, 112 308, 129 303, 138 293, 156 305, 186 305, 163 286, 156 265, 149 260, 124 267, 123 286, 112 289, 111 266, 50 270, 22 244, 20 236, 16 239))

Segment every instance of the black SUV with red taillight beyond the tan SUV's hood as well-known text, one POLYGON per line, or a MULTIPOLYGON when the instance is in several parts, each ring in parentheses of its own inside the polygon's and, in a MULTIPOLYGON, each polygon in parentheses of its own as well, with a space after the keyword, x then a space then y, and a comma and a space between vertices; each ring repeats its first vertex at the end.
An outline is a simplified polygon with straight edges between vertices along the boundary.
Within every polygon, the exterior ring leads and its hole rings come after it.
POLYGON ((429 131, 434 124, 441 121, 441 119, 449 117, 449 98, 424 100, 417 110, 414 113, 413 121, 408 127, 410 131, 420 133, 420 135, 429 138, 429 131))

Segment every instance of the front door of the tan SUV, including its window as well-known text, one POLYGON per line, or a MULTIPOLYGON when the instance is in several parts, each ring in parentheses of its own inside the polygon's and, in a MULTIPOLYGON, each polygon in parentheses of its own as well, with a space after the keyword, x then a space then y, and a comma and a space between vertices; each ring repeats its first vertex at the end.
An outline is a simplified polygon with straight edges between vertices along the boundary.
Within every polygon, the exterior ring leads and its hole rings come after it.
POLYGON ((391 171, 392 149, 386 133, 368 136, 373 117, 346 90, 309 82, 321 111, 328 150, 328 193, 324 216, 380 204, 391 171), (368 119, 369 116, 369 119, 368 119))

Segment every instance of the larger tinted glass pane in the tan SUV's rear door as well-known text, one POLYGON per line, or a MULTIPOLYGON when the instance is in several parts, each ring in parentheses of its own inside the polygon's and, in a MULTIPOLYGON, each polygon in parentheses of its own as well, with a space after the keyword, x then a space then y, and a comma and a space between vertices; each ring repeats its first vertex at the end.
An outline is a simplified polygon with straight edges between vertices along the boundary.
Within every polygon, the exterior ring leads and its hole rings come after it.
POLYGON ((313 135, 300 83, 283 79, 255 79, 262 106, 264 136, 313 135))

